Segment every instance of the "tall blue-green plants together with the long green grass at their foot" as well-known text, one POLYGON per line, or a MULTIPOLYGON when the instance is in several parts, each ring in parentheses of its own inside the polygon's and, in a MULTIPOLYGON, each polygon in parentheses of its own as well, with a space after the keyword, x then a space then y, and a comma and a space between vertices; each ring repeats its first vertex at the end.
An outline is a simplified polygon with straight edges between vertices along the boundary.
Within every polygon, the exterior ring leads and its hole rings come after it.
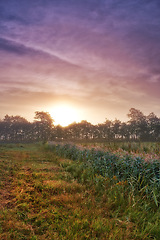
POLYGON ((51 150, 74 160, 63 167, 89 189, 94 186, 97 202, 103 204, 111 217, 137 224, 144 239, 160 238, 160 162, 157 159, 147 162, 130 154, 79 149, 69 144, 54 145, 51 150))

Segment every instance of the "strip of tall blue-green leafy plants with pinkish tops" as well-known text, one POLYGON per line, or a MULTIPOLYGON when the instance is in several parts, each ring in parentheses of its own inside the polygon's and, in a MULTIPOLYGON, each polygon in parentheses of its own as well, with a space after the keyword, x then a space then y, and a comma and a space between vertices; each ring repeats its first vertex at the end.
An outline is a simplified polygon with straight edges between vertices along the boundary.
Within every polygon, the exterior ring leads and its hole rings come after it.
POLYGON ((71 144, 49 146, 56 155, 81 162, 93 175, 115 178, 117 183, 127 182, 134 192, 145 192, 160 203, 160 162, 156 159, 145 161, 130 154, 118 155, 96 149, 80 149, 71 144))

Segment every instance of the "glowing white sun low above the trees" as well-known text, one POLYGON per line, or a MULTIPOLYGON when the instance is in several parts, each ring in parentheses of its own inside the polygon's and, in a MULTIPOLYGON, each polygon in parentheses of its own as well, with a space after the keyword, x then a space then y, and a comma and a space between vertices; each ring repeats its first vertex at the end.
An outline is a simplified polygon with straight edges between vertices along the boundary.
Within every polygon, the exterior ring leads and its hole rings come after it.
POLYGON ((65 127, 73 122, 80 121, 78 111, 69 105, 57 105, 49 112, 54 119, 55 125, 65 127))

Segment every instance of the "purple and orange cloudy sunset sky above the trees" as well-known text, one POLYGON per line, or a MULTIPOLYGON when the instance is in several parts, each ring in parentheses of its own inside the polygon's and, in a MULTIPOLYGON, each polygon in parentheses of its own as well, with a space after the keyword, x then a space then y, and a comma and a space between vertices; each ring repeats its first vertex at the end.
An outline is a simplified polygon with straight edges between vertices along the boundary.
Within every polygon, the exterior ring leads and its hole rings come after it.
POLYGON ((0 119, 97 124, 132 107, 160 116, 159 0, 0 0, 0 119))

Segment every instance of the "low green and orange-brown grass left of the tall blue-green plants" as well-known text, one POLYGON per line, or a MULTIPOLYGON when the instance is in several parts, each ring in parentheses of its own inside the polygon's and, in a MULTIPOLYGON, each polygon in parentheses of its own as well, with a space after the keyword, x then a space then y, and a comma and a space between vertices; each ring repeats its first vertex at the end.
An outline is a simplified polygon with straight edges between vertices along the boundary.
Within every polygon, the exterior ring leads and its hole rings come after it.
POLYGON ((40 145, 2 145, 0 239, 158 240, 160 211, 40 145))

